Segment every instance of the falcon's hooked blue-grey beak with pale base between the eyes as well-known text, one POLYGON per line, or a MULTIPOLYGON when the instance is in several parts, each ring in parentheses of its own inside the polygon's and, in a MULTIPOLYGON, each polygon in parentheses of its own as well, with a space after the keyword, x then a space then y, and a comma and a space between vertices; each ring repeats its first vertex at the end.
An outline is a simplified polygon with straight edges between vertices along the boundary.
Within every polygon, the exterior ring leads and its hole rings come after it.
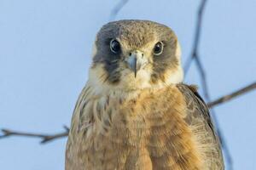
POLYGON ((130 53, 130 56, 125 59, 131 71, 134 72, 134 77, 137 76, 137 71, 146 63, 146 59, 141 51, 135 50, 130 53))

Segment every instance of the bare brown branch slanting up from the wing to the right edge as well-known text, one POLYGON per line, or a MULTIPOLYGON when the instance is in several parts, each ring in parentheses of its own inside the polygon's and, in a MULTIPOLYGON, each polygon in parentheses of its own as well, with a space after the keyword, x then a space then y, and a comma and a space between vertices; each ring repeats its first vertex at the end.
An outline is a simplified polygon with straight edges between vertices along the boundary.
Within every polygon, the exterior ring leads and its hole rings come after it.
POLYGON ((233 92, 231 94, 224 95, 223 97, 220 97, 212 102, 209 102, 207 105, 208 105, 208 107, 213 107, 215 105, 223 104, 224 102, 230 101, 230 99, 234 99, 237 96, 240 96, 242 94, 246 94, 255 88, 256 88, 256 82, 253 82, 244 88, 236 90, 235 92, 233 92))

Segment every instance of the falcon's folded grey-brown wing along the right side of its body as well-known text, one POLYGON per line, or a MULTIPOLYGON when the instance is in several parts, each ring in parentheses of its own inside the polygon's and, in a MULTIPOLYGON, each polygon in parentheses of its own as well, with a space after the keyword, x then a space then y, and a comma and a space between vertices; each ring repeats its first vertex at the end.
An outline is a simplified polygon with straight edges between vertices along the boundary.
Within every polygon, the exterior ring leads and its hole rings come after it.
POLYGON ((207 104, 198 94, 195 86, 179 84, 177 88, 183 94, 187 105, 187 116, 184 119, 201 145, 207 164, 212 169, 224 169, 218 133, 212 123, 207 104))

